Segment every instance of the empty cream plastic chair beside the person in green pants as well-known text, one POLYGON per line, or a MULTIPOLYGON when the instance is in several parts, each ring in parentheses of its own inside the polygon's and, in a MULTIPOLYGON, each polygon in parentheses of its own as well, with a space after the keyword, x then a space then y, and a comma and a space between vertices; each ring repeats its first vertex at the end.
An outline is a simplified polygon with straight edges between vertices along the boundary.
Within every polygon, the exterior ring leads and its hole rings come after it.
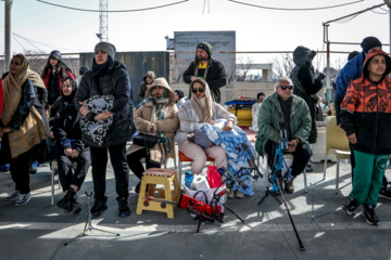
POLYGON ((337 126, 337 119, 335 116, 328 116, 326 118, 326 157, 324 167, 324 180, 326 180, 327 170, 327 156, 335 155, 337 158, 337 176, 336 176, 336 194, 339 190, 339 165, 340 159, 350 160, 351 150, 349 147, 349 140, 345 131, 337 126))

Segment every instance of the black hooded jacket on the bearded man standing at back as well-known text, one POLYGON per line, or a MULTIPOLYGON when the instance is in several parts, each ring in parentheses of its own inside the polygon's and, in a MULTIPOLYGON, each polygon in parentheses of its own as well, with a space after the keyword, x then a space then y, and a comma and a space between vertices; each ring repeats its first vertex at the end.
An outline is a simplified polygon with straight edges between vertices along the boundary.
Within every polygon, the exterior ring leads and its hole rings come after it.
MULTIPOLYGON (((207 60, 207 66, 205 69, 199 68, 200 61, 197 56, 195 50, 195 58, 190 64, 190 66, 184 73, 184 81, 188 84, 191 83, 191 77, 201 77, 206 80, 209 87, 211 88, 211 94, 214 102, 220 102, 220 91, 219 88, 224 87, 227 83, 226 72, 223 63, 216 61, 212 56, 212 46, 207 42, 202 42, 207 49, 210 53, 210 58, 207 60)), ((191 98, 191 90, 189 89, 189 99, 191 98)))

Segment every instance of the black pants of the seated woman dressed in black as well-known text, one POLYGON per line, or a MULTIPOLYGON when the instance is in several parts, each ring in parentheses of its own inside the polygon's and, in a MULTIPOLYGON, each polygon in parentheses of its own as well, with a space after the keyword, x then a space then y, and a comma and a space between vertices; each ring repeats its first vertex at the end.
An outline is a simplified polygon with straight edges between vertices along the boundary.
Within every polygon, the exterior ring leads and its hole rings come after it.
POLYGON ((63 192, 70 190, 71 184, 76 185, 77 190, 80 190, 91 162, 90 151, 84 150, 77 158, 61 155, 56 158, 56 160, 59 164, 59 177, 63 192), (73 174, 72 162, 74 161, 77 162, 77 166, 75 173, 73 174))

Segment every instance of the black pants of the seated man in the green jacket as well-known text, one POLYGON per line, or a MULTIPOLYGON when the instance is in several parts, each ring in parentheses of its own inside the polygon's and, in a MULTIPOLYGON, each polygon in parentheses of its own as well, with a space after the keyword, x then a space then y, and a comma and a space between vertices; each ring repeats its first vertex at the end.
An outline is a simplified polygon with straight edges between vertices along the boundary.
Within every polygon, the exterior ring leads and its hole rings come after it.
MULTIPOLYGON (((272 168, 272 170, 274 170, 274 165, 273 165, 273 157, 275 153, 275 147, 277 147, 277 143, 268 140, 266 142, 265 145, 265 153, 267 154, 267 165, 272 168)), ((287 153, 286 153, 287 154, 287 153)), ((310 161, 311 158, 311 150, 310 146, 307 144, 304 143, 300 143, 297 147, 297 150, 293 153, 290 153, 294 156, 293 161, 292 161, 292 176, 293 178, 295 178, 297 176, 299 176, 300 173, 302 173, 306 167, 306 165, 310 161)))

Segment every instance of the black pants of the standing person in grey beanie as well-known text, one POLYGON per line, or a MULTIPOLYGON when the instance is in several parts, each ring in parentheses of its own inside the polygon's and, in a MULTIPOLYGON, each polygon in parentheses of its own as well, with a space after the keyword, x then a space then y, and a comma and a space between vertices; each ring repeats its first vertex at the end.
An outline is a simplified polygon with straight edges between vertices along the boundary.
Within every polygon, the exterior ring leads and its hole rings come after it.
POLYGON ((129 176, 126 165, 126 143, 106 146, 106 147, 90 147, 92 161, 92 181, 94 199, 106 202, 105 193, 105 176, 108 167, 108 150, 110 153, 111 164, 115 177, 115 190, 118 197, 128 197, 129 176))

